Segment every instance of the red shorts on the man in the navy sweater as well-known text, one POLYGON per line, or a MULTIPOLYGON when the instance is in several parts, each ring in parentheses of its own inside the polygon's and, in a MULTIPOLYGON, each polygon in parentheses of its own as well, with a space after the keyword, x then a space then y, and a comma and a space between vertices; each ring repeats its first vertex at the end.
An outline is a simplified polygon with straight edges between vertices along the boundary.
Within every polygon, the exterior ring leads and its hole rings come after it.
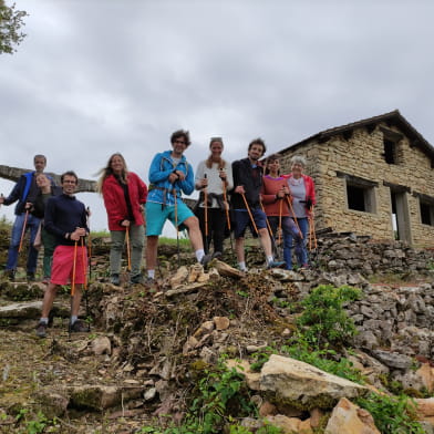
MULTIPOLYGON (((58 246, 53 255, 53 265, 51 267, 51 283, 68 285, 72 282, 74 275, 74 246, 58 246)), ((86 247, 76 247, 75 258, 75 283, 86 282, 87 271, 87 249, 86 247)))

